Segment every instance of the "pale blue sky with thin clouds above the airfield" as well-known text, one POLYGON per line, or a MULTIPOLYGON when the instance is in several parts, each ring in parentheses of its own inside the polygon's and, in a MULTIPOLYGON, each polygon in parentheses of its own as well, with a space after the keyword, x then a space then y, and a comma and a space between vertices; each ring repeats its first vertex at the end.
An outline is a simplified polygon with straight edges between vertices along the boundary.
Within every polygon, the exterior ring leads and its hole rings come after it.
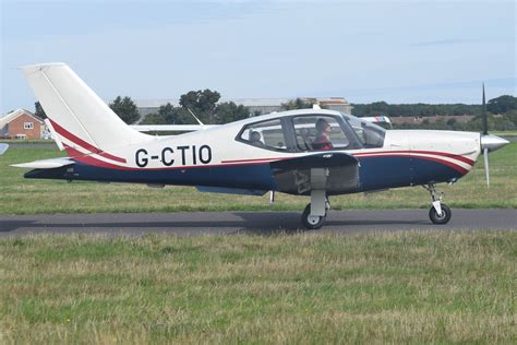
POLYGON ((0 114, 33 109, 15 68, 67 62, 101 98, 516 95, 514 1, 1 2, 0 114))

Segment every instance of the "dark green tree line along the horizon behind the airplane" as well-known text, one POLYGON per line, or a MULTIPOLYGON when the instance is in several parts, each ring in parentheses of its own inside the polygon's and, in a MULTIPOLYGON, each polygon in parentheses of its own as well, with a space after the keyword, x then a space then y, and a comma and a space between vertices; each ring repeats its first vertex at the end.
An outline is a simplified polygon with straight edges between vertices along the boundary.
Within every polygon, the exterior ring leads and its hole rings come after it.
MULTIPOLYGON (((205 124, 223 124, 252 116, 260 112, 250 112, 248 107, 236 105, 233 102, 218 103, 220 94, 212 90, 190 91, 181 95, 180 106, 175 107, 170 103, 159 107, 157 112, 148 114, 141 124, 195 124, 194 114, 205 124)), ((285 110, 312 108, 315 99, 296 98, 281 107, 285 110)), ((420 123, 401 123, 396 128, 409 129, 443 129, 443 130, 467 130, 479 131, 481 124, 481 105, 465 104, 387 104, 375 102, 372 104, 352 104, 352 115, 357 117, 434 117, 434 116, 460 116, 470 115, 473 119, 469 122, 458 122, 450 118, 447 121, 437 120, 431 122, 424 119, 420 123)), ((109 107, 125 122, 135 123, 141 119, 139 108, 129 96, 118 96, 109 104, 109 107)), ((486 104, 489 112, 489 128, 491 130, 516 130, 517 129, 517 97, 503 95, 490 99, 486 104)), ((46 118, 46 114, 39 102, 35 104, 35 114, 46 118)))

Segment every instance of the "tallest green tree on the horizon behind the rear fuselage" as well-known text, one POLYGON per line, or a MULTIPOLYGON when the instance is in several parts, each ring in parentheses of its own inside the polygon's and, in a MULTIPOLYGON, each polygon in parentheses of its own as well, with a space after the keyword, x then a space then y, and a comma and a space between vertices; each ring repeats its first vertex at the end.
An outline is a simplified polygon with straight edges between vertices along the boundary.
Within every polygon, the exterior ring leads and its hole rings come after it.
POLYGON ((204 91, 190 91, 180 97, 180 105, 190 109, 203 123, 215 123, 214 111, 220 94, 217 91, 205 88, 204 91))

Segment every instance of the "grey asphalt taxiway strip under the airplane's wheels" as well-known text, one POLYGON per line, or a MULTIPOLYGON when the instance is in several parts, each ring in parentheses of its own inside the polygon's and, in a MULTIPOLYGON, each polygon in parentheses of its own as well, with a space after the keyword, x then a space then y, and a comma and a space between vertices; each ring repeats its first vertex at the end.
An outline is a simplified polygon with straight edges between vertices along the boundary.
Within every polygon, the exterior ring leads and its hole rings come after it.
MULTIPOLYGON (((453 210, 447 225, 433 225, 428 210, 330 211, 321 230, 330 233, 396 230, 517 230, 517 210, 453 210)), ((27 234, 148 233, 195 236, 303 231, 301 212, 191 212, 139 214, 0 215, 0 237, 27 234)))

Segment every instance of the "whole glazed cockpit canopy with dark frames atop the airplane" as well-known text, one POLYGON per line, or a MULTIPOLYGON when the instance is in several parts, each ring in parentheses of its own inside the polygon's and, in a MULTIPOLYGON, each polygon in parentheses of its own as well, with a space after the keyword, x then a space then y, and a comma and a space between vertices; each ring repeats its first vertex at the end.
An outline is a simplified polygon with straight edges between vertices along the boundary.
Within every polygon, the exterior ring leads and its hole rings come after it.
POLYGON ((248 123, 236 140, 266 150, 313 152, 382 147, 385 129, 339 114, 284 116, 248 123))

